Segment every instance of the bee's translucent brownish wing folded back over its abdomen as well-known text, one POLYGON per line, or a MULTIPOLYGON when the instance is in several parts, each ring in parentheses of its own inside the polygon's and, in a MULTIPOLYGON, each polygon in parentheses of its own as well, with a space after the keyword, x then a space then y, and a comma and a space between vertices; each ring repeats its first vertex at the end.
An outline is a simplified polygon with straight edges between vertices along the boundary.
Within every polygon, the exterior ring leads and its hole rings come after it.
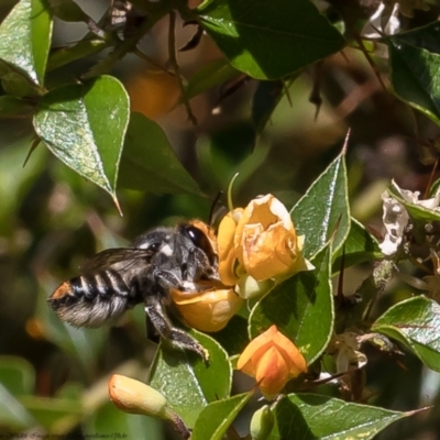
POLYGON ((127 262, 129 268, 132 264, 140 261, 147 262, 153 255, 151 250, 136 249, 136 248, 116 248, 106 249, 106 251, 99 252, 91 258, 87 260, 81 266, 81 273, 92 274, 101 272, 113 264, 127 262))

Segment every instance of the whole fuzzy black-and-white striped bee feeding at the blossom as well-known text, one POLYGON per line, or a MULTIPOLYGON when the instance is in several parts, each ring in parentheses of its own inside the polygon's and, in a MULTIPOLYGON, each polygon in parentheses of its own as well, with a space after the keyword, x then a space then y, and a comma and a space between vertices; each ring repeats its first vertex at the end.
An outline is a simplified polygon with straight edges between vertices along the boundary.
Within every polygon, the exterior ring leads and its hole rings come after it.
POLYGON ((198 353, 201 345, 173 326, 170 292, 201 292, 221 285, 217 242, 210 227, 194 220, 155 228, 130 248, 108 249, 88 260, 80 275, 64 282, 47 299, 59 319, 74 327, 100 327, 143 304, 160 337, 198 353))

